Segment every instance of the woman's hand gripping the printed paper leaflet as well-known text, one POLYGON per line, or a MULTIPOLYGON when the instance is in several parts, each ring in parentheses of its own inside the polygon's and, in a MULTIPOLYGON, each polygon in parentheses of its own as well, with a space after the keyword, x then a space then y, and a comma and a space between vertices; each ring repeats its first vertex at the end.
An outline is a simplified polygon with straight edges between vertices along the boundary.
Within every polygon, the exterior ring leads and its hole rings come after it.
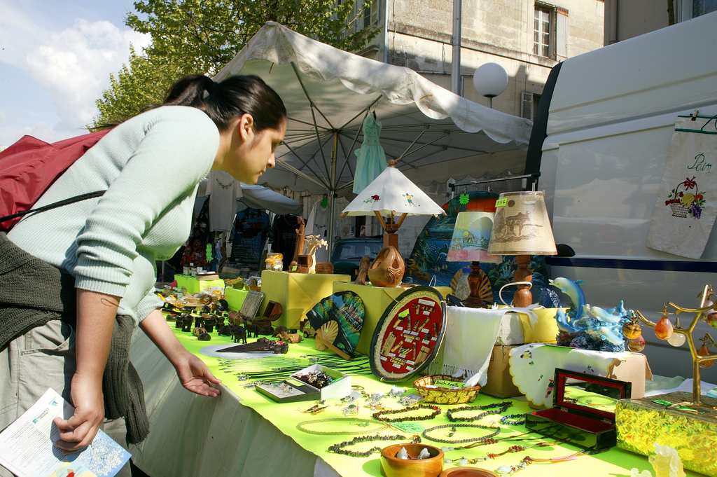
POLYGON ((54 418, 54 424, 60 430, 60 440, 54 445, 67 452, 74 452, 92 443, 105 418, 102 379, 75 373, 70 393, 75 414, 67 420, 54 418))

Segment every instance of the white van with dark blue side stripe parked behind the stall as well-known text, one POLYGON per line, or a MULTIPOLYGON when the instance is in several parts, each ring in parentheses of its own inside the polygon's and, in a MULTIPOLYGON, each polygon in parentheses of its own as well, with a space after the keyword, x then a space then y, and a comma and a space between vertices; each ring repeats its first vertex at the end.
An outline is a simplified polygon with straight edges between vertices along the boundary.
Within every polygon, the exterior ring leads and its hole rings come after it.
MULTIPOLYGON (((717 115, 716 32, 717 12, 570 58, 551 72, 526 173, 540 172, 555 240, 575 251, 550 258, 551 275, 583 280, 588 303, 611 307, 624 298, 657 321, 663 302, 696 307, 703 286, 717 286, 717 231, 701 260, 645 246, 675 118, 717 115)), ((717 158, 711 162, 717 180, 717 158)), ((706 331, 717 339, 701 323, 695 340, 706 331)), ((653 372, 692 376, 686 344, 673 348, 645 326, 643 335, 653 372)), ((717 382, 717 366, 702 379, 717 382)))

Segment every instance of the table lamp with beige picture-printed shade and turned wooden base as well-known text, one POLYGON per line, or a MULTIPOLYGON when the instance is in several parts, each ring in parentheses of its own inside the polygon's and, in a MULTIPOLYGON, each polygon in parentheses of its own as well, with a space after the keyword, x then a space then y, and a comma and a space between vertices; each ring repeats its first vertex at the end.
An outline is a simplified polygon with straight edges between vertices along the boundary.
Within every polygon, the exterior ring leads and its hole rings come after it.
POLYGON ((518 290, 513 296, 513 306, 530 306, 533 303, 532 275, 528 270, 531 255, 558 255, 543 192, 500 194, 495 202, 488 253, 516 255, 514 278, 518 290))

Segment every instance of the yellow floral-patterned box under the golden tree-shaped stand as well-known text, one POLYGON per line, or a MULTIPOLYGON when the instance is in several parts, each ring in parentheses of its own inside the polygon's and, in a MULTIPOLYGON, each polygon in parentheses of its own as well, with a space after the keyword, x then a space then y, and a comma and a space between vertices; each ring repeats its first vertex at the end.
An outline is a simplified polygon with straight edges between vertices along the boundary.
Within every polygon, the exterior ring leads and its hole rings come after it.
POLYGON ((703 405, 681 404, 692 401, 687 392, 617 403, 615 420, 617 446, 642 455, 655 451, 655 443, 678 450, 692 471, 717 477, 717 400, 702 397, 703 405))

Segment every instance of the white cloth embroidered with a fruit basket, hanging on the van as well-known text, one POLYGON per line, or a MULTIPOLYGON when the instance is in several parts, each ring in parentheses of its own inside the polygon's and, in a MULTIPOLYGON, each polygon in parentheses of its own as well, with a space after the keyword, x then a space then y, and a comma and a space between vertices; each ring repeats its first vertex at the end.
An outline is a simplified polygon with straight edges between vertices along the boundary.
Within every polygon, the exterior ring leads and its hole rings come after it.
POLYGON ((717 115, 678 116, 647 247, 701 258, 717 218, 717 115))

